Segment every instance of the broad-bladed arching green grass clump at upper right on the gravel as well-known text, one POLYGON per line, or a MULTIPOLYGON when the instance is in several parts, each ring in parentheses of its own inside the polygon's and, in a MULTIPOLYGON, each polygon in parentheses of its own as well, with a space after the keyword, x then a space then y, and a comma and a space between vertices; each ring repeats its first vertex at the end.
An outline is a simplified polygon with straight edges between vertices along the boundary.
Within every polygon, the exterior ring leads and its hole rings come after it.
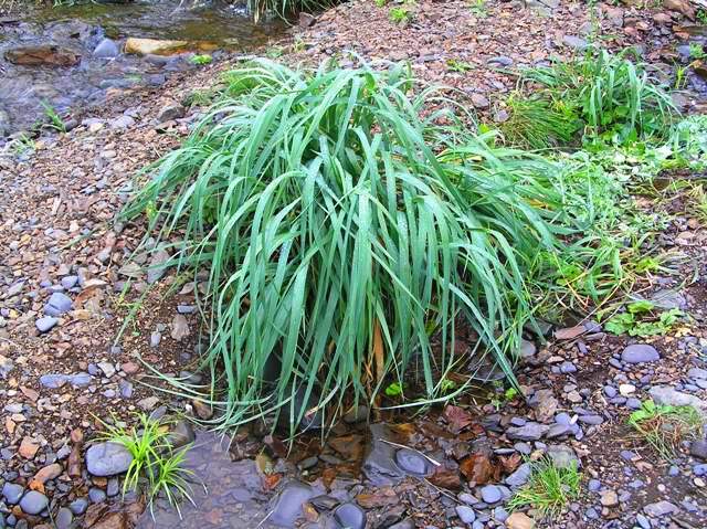
POLYGON ((676 109, 669 92, 648 76, 631 50, 585 54, 523 72, 523 83, 539 83, 541 97, 561 100, 584 124, 584 141, 625 145, 669 135, 676 109))

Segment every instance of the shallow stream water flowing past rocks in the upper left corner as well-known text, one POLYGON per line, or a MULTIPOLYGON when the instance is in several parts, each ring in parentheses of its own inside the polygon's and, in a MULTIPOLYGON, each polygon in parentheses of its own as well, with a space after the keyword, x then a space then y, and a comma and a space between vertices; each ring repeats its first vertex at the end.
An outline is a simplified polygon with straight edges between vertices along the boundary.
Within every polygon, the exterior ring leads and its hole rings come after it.
POLYGON ((0 138, 33 128, 45 119, 46 105, 71 114, 84 105, 105 105, 109 88, 159 86, 171 73, 197 67, 184 54, 165 61, 126 54, 94 57, 93 50, 106 36, 120 49, 133 36, 183 40, 189 50, 250 51, 279 38, 283 30, 274 21, 255 24, 242 9, 220 0, 196 8, 176 0, 24 4, 17 15, 0 18, 0 138), (46 45, 77 55, 77 64, 23 66, 8 60, 8 52, 46 45))

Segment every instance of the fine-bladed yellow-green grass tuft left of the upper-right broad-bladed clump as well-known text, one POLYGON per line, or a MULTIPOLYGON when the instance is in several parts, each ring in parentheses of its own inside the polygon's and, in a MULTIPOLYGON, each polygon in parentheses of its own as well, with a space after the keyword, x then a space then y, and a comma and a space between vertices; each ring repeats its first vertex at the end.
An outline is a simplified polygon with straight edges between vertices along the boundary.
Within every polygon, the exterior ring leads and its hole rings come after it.
POLYGON ((574 109, 561 100, 526 97, 516 92, 506 99, 508 119, 500 131, 510 145, 528 149, 548 149, 569 144, 581 128, 574 109))

